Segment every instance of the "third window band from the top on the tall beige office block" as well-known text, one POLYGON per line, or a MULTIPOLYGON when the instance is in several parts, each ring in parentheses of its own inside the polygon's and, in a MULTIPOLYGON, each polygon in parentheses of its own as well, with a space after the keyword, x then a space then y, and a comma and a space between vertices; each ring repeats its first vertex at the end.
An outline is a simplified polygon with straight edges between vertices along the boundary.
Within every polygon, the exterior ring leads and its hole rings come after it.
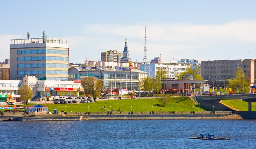
POLYGON ((18 63, 18 68, 38 68, 38 67, 68 68, 68 64, 64 64, 64 63, 18 63))

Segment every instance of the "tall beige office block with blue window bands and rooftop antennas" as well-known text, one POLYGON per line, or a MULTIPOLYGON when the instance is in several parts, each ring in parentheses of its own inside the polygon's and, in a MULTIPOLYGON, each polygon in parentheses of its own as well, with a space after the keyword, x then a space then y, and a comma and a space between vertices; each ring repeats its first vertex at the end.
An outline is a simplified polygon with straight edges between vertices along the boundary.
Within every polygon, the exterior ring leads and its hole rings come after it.
POLYGON ((68 80, 66 39, 13 39, 10 44, 10 79, 35 75, 38 80, 68 80))

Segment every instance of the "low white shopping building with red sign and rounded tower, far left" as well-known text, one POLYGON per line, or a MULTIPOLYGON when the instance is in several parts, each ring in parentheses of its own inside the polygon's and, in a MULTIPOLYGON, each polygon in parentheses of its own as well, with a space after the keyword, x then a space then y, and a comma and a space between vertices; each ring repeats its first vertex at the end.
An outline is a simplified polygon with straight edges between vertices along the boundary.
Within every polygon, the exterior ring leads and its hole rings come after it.
POLYGON ((21 101, 18 90, 23 85, 29 86, 33 99, 52 100, 54 96, 76 97, 84 91, 78 81, 37 80, 35 75, 25 75, 21 80, 0 80, 0 104, 21 101))

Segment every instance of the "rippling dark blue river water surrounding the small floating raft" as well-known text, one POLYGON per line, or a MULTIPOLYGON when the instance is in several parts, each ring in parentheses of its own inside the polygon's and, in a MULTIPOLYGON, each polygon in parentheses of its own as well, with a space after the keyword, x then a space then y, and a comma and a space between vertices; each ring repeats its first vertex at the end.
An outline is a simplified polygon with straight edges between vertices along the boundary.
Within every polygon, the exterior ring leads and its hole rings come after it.
POLYGON ((0 122, 1 148, 256 148, 256 120, 0 122), (213 132, 231 140, 188 137, 213 132))

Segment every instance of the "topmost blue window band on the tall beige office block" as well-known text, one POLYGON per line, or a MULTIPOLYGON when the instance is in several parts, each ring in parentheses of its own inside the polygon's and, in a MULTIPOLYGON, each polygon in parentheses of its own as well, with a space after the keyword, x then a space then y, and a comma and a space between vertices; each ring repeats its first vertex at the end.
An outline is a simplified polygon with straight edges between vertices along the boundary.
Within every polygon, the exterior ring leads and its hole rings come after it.
POLYGON ((30 49, 30 50, 18 50, 17 54, 68 54, 68 50, 56 50, 56 49, 30 49))

